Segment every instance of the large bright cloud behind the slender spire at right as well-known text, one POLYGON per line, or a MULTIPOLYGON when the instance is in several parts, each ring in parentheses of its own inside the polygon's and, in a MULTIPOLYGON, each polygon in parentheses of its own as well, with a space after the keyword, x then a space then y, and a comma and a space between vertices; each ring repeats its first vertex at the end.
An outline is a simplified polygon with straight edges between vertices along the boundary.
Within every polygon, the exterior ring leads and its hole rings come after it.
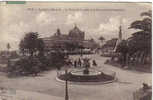
POLYGON ((127 28, 129 23, 127 18, 122 18, 122 21, 121 18, 121 16, 113 16, 108 18, 106 23, 100 23, 97 28, 90 29, 90 32, 94 33, 91 35, 96 38, 104 36, 107 39, 118 37, 119 26, 121 25, 122 29, 124 30, 127 28))

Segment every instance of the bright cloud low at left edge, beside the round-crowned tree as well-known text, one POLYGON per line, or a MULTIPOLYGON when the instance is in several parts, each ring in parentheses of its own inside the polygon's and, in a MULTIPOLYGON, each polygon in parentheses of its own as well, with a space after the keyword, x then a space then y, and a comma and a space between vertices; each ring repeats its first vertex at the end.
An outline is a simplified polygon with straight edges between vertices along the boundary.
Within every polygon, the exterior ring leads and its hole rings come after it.
POLYGON ((27 32, 27 30, 29 30, 29 25, 22 21, 3 27, 0 35, 0 49, 4 50, 7 43, 13 45, 12 49, 17 49, 20 40, 26 34, 25 32, 27 32))

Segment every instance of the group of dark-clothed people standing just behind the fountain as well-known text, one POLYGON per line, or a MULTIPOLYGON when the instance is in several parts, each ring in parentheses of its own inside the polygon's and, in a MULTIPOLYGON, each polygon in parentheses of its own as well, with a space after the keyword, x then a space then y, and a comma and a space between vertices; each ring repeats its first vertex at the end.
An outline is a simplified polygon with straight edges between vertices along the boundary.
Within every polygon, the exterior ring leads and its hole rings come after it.
MULTIPOLYGON (((81 67, 90 67, 90 59, 89 58, 78 58, 78 59, 68 59, 67 61, 68 66, 73 66, 74 68, 81 68, 81 67)), ((92 66, 97 66, 96 61, 92 60, 92 66)))

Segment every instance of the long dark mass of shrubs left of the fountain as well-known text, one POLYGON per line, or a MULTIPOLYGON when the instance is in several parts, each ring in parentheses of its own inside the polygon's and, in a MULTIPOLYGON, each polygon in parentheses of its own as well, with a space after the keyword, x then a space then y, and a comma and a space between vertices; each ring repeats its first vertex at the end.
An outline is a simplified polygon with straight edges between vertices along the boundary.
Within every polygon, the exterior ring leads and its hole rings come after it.
POLYGON ((37 75, 39 72, 49 70, 51 68, 57 68, 60 70, 65 65, 65 54, 63 53, 51 53, 47 56, 35 56, 35 57, 23 57, 20 58, 15 64, 8 68, 10 75, 37 75))

